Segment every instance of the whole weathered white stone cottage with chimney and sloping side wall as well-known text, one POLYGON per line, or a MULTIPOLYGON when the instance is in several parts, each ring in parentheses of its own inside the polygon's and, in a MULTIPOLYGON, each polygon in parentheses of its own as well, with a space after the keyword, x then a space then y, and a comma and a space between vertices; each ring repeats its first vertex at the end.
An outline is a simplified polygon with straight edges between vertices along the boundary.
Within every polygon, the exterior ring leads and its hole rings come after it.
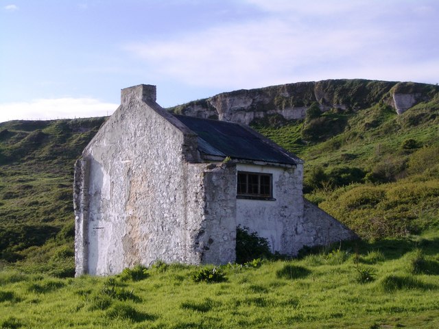
POLYGON ((171 114, 155 86, 123 89, 75 164, 76 275, 233 262, 239 225, 281 254, 352 239, 303 199, 302 173, 302 160, 245 125, 171 114))

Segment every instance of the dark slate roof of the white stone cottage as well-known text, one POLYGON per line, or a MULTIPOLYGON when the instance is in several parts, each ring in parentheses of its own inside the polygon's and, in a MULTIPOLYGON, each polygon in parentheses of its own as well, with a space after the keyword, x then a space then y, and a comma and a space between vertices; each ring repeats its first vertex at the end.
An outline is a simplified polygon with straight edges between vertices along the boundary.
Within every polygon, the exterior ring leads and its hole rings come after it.
POLYGON ((174 117, 198 135, 198 149, 204 155, 282 164, 301 161, 244 125, 176 114, 174 117))

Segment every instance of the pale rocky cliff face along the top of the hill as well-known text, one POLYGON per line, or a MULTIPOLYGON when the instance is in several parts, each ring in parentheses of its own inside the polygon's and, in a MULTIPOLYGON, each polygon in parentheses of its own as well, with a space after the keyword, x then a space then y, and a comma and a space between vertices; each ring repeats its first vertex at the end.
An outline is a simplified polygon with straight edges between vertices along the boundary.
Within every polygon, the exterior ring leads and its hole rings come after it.
POLYGON ((304 119, 314 101, 319 103, 322 112, 331 108, 361 110, 384 101, 401 114, 438 92, 438 86, 412 82, 323 80, 236 90, 169 110, 191 117, 250 125, 270 116, 281 120, 304 119))

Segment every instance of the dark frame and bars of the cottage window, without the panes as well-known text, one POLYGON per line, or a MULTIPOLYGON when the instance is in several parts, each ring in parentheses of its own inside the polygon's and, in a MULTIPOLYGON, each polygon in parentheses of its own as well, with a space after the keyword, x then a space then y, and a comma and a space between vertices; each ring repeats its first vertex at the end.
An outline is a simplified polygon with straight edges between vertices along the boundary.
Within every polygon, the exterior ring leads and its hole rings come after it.
MULTIPOLYGON (((242 177, 242 176, 241 176, 242 177)), ((275 201, 273 198, 273 174, 272 173, 259 173, 256 171, 238 171, 237 172, 237 199, 257 199, 275 201), (245 182, 240 180, 240 175, 245 175, 245 182), (257 183, 254 182, 254 178, 257 178, 257 183), (263 182, 262 178, 268 178, 268 184, 263 182), (253 182, 250 182, 253 180, 253 182), (268 185, 268 186, 267 186, 268 185), (245 191, 241 191, 244 187, 245 191), (257 188, 257 192, 251 190, 257 188), (261 193, 261 190, 267 188, 269 193, 261 193)))

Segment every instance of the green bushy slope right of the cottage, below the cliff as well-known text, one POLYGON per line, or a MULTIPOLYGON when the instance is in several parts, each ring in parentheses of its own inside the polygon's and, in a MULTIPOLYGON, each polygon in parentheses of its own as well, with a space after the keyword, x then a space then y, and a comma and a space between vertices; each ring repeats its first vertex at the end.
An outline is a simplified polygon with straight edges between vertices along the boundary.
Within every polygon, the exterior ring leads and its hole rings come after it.
POLYGON ((355 113, 331 110, 303 122, 255 128, 305 159, 306 197, 362 238, 438 226, 438 96, 401 115, 377 103, 355 113), (331 130, 334 121, 343 125, 331 130))

